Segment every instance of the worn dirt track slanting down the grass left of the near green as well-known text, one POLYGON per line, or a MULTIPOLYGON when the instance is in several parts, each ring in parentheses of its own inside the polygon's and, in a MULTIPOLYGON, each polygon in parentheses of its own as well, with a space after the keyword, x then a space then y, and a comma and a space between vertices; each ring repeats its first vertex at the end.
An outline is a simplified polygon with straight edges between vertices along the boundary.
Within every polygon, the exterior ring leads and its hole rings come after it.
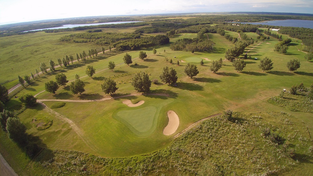
POLYGON ((90 140, 85 137, 84 135, 84 132, 71 120, 69 120, 68 118, 66 118, 65 116, 62 116, 61 114, 53 111, 52 109, 50 109, 48 106, 46 106, 43 102, 41 101, 38 101, 37 102, 44 106, 45 110, 50 112, 50 113, 53 113, 54 115, 56 115, 57 118, 59 118, 60 120, 64 121, 64 122, 67 122, 71 128, 74 130, 74 132, 76 132, 76 134, 83 140, 83 142, 85 142, 85 144, 90 148, 92 149, 93 151, 97 152, 97 150, 99 150, 99 148, 97 148, 95 145, 92 145, 90 140))

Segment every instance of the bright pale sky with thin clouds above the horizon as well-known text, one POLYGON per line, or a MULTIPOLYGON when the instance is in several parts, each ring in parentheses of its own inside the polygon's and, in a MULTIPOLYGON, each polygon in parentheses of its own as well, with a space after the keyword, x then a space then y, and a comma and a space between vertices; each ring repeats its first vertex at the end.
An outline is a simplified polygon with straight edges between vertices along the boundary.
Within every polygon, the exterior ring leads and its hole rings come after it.
POLYGON ((313 0, 0 0, 0 25, 84 16, 191 12, 313 13, 313 0))

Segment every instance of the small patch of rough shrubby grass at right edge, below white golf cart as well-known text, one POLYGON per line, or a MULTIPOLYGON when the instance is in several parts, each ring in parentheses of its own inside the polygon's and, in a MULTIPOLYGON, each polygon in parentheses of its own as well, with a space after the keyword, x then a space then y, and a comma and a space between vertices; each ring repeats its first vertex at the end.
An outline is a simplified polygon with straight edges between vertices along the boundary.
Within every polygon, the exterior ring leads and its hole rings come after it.
POLYGON ((313 113, 313 101, 310 100, 304 93, 292 95, 284 93, 283 97, 275 96, 268 100, 269 103, 284 107, 290 111, 301 111, 313 113))

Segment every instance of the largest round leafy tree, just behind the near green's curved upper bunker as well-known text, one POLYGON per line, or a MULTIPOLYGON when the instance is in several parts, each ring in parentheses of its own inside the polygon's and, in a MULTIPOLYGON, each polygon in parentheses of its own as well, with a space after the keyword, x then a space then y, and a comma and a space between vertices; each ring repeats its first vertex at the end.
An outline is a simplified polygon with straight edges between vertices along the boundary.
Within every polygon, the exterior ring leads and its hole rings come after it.
POLYGON ((131 85, 138 92, 148 92, 151 87, 151 80, 149 79, 149 75, 146 72, 139 72, 131 78, 131 85))

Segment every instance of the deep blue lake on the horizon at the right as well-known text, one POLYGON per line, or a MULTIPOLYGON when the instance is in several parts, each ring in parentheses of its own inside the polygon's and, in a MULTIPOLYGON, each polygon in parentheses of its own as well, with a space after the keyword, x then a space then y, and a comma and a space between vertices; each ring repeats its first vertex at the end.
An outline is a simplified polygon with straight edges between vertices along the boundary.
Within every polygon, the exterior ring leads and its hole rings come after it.
POLYGON ((299 27, 299 28, 311 28, 313 29, 313 21, 311 20, 296 20, 296 19, 287 19, 287 20, 273 20, 273 21, 264 21, 264 22, 236 22, 242 24, 263 24, 270 26, 289 26, 289 27, 299 27))

